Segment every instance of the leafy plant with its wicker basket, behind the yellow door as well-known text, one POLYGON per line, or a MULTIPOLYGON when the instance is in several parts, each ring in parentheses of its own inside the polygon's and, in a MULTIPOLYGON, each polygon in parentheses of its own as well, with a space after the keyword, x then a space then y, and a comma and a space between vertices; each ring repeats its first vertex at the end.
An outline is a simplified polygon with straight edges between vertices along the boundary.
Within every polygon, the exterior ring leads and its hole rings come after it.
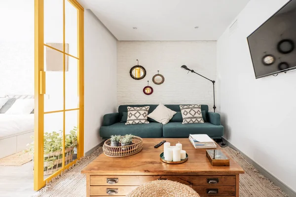
MULTIPOLYGON (((77 146, 76 133, 77 128, 74 127, 69 134, 65 134, 65 150, 63 151, 63 131, 44 132, 44 175, 53 174, 57 170, 61 169, 63 163, 63 155, 65 157, 65 165, 72 162, 74 147, 77 146)), ((28 151, 30 151, 30 153, 34 155, 34 141, 28 145, 30 145, 28 151)))

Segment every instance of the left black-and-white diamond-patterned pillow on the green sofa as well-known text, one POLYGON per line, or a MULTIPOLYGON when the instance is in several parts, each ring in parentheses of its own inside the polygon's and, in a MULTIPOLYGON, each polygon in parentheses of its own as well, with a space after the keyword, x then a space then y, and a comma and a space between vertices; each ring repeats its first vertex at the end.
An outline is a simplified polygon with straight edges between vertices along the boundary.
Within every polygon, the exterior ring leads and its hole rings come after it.
POLYGON ((149 106, 146 107, 127 107, 126 125, 148 124, 147 115, 149 106))

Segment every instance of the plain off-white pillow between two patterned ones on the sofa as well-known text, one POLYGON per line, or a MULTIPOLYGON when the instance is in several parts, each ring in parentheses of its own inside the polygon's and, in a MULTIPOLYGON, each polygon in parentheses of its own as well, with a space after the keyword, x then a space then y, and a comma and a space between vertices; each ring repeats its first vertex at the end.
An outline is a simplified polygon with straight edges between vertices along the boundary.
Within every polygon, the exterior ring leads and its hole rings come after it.
POLYGON ((148 117, 165 125, 176 113, 176 111, 173 111, 164 106, 162 103, 159 103, 159 105, 150 114, 148 114, 148 117))

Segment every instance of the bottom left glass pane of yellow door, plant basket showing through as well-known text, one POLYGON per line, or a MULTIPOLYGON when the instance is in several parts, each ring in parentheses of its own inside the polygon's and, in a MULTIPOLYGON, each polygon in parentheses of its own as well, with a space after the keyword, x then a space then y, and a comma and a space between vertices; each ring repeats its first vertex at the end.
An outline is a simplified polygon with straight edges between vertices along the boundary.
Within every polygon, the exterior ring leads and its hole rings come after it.
POLYGON ((44 179, 63 167, 63 120, 63 112, 44 114, 44 179))

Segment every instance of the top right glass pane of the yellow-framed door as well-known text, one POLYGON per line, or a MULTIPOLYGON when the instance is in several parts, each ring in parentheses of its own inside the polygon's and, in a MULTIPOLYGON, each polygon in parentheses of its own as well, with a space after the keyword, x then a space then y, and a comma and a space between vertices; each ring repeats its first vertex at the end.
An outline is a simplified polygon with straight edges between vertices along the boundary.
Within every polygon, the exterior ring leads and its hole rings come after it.
POLYGON ((68 1, 65 0, 65 43, 69 45, 69 51, 66 53, 77 57, 77 30, 78 30, 78 10, 68 1))

